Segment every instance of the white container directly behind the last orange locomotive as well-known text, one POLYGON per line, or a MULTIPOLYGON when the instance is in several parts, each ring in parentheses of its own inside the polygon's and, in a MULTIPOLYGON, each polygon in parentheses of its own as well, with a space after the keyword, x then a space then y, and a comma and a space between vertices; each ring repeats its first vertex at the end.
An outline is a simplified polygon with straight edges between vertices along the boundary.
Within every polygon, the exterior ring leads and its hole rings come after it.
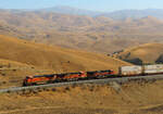
POLYGON ((135 65, 135 66, 122 66, 120 67, 120 75, 121 76, 135 76, 142 74, 142 67, 135 65))

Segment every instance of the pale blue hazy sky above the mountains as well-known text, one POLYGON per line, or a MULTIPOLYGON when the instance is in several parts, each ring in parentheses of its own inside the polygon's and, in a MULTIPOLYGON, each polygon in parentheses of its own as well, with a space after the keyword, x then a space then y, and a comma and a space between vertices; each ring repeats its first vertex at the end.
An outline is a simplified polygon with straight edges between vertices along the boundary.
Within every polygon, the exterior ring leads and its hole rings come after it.
POLYGON ((163 0, 0 0, 1 9, 41 9, 68 5, 96 11, 163 9, 163 0))

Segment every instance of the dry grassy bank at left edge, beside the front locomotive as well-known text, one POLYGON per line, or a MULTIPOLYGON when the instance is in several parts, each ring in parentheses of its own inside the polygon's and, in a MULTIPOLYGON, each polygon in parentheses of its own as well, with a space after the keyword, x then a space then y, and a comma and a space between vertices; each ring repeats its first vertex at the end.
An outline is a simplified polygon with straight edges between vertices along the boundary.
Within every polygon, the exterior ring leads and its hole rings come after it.
POLYGON ((28 75, 51 74, 51 69, 40 69, 15 61, 0 59, 0 89, 22 86, 28 75))

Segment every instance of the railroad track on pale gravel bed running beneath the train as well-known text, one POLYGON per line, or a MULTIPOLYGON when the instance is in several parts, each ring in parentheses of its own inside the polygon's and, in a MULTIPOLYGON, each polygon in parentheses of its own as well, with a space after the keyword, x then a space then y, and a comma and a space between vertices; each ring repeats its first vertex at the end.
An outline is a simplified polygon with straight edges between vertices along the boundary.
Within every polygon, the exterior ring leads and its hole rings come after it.
POLYGON ((57 83, 57 84, 50 84, 50 85, 29 86, 29 87, 14 87, 14 88, 8 88, 8 89, 0 89, 0 93, 18 92, 18 91, 26 91, 26 90, 37 90, 37 89, 43 89, 43 88, 62 87, 62 86, 71 86, 71 85, 83 85, 83 84, 110 84, 113 81, 117 83, 117 84, 124 84, 124 83, 131 81, 131 80, 161 80, 161 79, 163 79, 163 75, 114 77, 114 78, 104 78, 104 79, 57 83))

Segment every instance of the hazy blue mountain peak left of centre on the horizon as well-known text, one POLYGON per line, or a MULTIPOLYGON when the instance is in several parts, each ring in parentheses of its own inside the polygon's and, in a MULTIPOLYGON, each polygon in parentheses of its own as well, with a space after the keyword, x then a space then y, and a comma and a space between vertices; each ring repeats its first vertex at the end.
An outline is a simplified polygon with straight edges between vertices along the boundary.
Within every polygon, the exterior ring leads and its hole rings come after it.
POLYGON ((102 13, 102 12, 83 10, 83 9, 71 8, 71 7, 62 7, 62 5, 41 9, 38 11, 55 12, 55 13, 72 14, 72 15, 89 15, 89 16, 97 16, 97 15, 100 15, 102 13))

